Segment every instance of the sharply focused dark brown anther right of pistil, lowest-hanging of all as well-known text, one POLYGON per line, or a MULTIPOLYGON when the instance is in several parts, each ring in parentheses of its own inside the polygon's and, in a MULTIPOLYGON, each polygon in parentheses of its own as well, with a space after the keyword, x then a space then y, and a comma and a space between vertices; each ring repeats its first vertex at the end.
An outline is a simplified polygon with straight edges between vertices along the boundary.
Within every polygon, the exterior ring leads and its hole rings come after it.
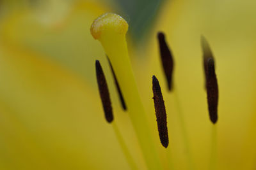
POLYGON ((156 76, 153 76, 152 79, 153 79, 152 84, 153 84, 153 94, 154 94, 153 99, 154 99, 154 105, 155 105, 155 111, 156 111, 156 121, 157 121, 159 138, 164 148, 167 148, 169 144, 169 138, 168 138, 164 99, 162 96, 159 81, 157 80, 156 76))

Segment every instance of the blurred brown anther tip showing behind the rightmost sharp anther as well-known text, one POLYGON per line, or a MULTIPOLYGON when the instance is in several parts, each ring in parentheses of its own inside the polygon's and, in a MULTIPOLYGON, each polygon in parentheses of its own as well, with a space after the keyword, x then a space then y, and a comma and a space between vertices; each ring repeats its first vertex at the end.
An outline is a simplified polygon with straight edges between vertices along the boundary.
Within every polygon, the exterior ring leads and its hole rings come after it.
POLYGON ((209 46, 209 43, 205 39, 204 36, 201 36, 201 45, 203 49, 203 64, 204 64, 204 73, 205 73, 205 87, 206 87, 206 73, 207 73, 207 60, 213 59, 214 57, 212 55, 211 48, 209 46))

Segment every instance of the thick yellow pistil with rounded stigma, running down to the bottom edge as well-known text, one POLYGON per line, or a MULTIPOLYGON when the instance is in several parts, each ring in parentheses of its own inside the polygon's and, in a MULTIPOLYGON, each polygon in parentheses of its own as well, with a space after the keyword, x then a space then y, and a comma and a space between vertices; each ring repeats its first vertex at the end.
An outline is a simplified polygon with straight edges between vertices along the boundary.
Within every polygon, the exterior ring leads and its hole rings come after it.
POLYGON ((91 27, 92 36, 100 41, 113 65, 147 167, 148 169, 162 169, 134 80, 125 38, 127 30, 127 22, 113 13, 100 16, 91 27))

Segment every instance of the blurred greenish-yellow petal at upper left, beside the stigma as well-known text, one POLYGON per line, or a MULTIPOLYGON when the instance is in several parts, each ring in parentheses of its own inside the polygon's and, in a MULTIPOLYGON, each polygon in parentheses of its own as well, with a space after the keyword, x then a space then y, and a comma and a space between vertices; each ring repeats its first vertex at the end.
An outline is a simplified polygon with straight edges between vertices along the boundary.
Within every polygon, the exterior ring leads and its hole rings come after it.
POLYGON ((89 70, 94 69, 95 59, 103 58, 104 52, 90 35, 90 25, 107 10, 91 1, 73 3, 63 18, 48 23, 44 22, 47 11, 16 11, 4 18, 1 34, 3 41, 42 53, 92 83, 94 75, 89 70))

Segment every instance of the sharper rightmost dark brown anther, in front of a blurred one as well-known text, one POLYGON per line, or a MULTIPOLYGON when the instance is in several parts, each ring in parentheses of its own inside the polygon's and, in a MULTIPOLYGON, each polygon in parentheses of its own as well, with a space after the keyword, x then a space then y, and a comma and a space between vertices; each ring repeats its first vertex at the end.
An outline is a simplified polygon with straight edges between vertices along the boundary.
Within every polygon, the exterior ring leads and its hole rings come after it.
POLYGON ((215 74, 214 60, 207 59, 206 73, 207 102, 211 122, 216 124, 218 120, 218 81, 215 74))

